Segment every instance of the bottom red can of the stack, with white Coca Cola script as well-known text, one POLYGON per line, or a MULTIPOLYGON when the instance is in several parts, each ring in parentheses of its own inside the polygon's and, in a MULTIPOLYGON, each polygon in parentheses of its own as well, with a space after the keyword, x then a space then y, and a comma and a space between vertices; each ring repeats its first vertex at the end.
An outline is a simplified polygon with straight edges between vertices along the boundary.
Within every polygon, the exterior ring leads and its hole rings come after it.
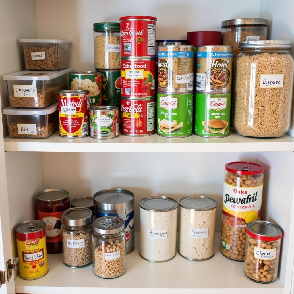
POLYGON ((155 132, 155 98, 121 97, 121 133, 128 136, 148 136, 155 132))

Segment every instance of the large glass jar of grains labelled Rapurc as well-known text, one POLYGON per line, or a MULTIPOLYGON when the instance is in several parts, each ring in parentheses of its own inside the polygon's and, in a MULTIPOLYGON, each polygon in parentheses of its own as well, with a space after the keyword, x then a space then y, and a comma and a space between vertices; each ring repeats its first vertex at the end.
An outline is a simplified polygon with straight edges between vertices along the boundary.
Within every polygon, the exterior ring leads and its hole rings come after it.
POLYGON ((242 136, 281 137, 290 127, 291 41, 240 42, 235 60, 233 126, 242 136))

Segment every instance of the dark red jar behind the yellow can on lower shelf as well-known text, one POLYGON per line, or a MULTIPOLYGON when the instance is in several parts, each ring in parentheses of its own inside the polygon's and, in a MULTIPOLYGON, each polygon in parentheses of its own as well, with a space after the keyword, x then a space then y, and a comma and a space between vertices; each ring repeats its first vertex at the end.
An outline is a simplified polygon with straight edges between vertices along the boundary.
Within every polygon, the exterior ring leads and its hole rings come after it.
POLYGON ((62 189, 46 189, 37 195, 39 220, 46 223, 47 253, 61 253, 61 215, 70 208, 69 192, 62 189))

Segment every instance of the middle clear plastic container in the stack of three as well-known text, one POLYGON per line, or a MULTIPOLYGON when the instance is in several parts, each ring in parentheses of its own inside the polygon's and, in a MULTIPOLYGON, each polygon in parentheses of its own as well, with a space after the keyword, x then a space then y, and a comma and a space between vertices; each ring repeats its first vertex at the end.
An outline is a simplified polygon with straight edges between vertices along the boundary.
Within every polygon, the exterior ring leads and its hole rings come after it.
POLYGON ((68 73, 61 71, 19 71, 6 74, 10 106, 17 108, 44 108, 58 100, 58 91, 69 88, 68 73))

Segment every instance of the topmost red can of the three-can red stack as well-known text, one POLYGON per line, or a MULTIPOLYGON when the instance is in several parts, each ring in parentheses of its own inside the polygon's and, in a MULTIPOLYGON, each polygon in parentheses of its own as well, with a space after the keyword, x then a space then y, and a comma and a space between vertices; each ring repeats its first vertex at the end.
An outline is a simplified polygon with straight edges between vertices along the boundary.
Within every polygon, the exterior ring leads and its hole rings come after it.
POLYGON ((123 16, 121 56, 155 56, 156 20, 154 16, 123 16))

